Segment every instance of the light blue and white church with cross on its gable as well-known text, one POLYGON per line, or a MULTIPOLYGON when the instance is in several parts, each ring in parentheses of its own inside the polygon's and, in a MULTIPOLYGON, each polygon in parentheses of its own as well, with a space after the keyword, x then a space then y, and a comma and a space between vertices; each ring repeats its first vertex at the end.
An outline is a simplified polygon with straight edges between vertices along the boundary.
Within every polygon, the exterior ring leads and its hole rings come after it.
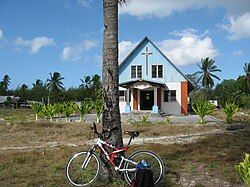
POLYGON ((121 113, 188 113, 193 84, 145 37, 119 65, 121 113))

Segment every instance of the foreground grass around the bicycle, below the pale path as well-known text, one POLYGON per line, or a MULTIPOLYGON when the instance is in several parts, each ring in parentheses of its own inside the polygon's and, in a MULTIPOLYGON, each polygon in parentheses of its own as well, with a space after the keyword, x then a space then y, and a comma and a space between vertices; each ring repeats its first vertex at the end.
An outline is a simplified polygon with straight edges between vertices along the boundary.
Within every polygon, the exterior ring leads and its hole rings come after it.
MULTIPOLYGON (((189 173, 198 176, 208 172, 231 184, 240 182, 234 165, 243 152, 250 152, 250 134, 247 132, 211 135, 193 144, 133 146, 157 152, 164 161, 167 173, 162 186, 178 186, 176 176, 189 173)), ((67 186, 65 165, 70 155, 86 147, 59 147, 56 149, 30 150, 26 152, 5 151, 0 153, 0 186, 67 186)), ((199 181, 205 185, 207 181, 199 181)), ((126 186, 116 180, 106 186, 126 186)), ((97 186, 104 186, 98 184, 97 186)))

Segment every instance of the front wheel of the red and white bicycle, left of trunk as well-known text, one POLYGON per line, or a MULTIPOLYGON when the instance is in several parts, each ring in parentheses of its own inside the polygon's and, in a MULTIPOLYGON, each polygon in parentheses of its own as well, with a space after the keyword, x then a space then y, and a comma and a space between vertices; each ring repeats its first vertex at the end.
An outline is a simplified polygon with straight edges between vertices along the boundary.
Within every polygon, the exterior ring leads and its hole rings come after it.
POLYGON ((66 166, 66 177, 73 186, 93 183, 100 172, 100 160, 95 153, 83 151, 73 155, 66 166))

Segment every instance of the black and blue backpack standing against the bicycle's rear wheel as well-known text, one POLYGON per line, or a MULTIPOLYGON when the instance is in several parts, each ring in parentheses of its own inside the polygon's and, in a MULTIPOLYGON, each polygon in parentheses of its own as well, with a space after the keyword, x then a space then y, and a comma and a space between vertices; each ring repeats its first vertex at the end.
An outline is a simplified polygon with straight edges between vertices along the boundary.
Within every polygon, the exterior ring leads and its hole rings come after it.
POLYGON ((133 187, 153 187, 154 176, 150 164, 142 160, 137 164, 133 187))

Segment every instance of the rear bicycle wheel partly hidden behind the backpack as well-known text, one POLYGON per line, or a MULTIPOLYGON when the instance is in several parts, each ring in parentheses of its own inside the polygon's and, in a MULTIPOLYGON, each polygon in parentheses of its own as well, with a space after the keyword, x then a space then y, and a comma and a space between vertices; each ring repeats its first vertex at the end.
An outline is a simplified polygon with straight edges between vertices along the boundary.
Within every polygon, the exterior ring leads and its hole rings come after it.
POLYGON ((136 165, 142 160, 145 160, 147 163, 150 164, 150 168, 154 174, 154 184, 159 183, 160 180, 163 178, 163 162, 160 157, 158 157, 154 152, 136 151, 128 157, 128 160, 130 161, 127 161, 124 166, 124 169, 130 169, 130 171, 125 171, 124 173, 124 177, 128 184, 131 184, 133 179, 135 178, 135 171, 132 170, 136 168, 136 165))

